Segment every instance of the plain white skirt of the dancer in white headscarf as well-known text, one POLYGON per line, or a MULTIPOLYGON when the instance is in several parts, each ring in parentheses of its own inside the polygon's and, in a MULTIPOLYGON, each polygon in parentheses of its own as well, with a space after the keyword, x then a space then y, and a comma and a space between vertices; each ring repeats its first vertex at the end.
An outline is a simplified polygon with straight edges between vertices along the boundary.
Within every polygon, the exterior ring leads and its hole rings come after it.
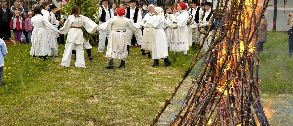
POLYGON ((163 28, 154 29, 154 42, 152 51, 153 59, 161 59, 169 55, 166 34, 163 28))

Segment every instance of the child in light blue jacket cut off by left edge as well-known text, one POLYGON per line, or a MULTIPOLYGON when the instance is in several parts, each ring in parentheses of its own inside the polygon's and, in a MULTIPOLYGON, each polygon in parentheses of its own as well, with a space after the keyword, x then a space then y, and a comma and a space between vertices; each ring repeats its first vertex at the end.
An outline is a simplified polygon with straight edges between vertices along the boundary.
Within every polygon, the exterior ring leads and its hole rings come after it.
POLYGON ((1 54, 0 54, 0 87, 1 87, 2 77, 3 77, 3 70, 4 70, 3 69, 3 67, 4 67, 4 57, 8 53, 6 45, 5 45, 5 42, 1 38, 0 38, 0 52, 1 52, 1 54))

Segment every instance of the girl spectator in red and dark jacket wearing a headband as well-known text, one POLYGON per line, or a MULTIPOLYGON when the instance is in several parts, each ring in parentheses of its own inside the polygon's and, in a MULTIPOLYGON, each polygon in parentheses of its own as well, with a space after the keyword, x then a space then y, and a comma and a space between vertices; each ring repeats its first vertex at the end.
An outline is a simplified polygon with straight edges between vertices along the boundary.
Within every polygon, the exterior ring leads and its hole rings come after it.
POLYGON ((19 11, 13 12, 13 17, 10 22, 10 31, 13 31, 14 40, 20 42, 21 31, 24 30, 23 18, 21 18, 19 11))

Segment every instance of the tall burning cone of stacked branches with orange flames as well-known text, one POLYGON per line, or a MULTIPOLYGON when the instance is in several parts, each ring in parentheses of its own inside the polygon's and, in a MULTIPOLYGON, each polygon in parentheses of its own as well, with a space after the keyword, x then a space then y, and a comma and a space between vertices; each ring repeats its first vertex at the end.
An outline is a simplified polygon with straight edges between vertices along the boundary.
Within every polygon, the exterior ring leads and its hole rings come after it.
POLYGON ((257 125, 257 121, 260 125, 269 125, 260 103, 259 59, 255 50, 261 19, 255 15, 263 16, 268 1, 264 0, 258 9, 258 0, 218 0, 214 16, 220 14, 223 25, 216 28, 213 44, 202 55, 198 50, 193 64, 183 74, 151 125, 155 125, 201 58, 200 70, 193 78, 180 112, 170 125, 257 125))

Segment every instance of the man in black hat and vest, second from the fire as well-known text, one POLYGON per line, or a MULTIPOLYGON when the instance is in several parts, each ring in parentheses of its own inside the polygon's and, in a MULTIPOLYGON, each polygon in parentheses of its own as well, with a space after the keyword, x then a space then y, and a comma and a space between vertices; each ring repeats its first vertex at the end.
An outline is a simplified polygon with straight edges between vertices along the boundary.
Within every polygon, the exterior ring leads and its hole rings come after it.
MULTIPOLYGON (((191 1, 191 6, 192 8, 189 9, 189 12, 192 14, 192 21, 191 21, 191 33, 192 33, 192 42, 193 45, 195 42, 199 43, 198 38, 200 35, 200 32, 198 30, 198 24, 199 24, 199 18, 200 18, 200 13, 202 13, 202 8, 198 7, 198 1, 197 0, 192 0, 191 1), (194 32, 194 33, 193 33, 194 32)), ((190 23, 188 20, 187 23, 190 23)))

